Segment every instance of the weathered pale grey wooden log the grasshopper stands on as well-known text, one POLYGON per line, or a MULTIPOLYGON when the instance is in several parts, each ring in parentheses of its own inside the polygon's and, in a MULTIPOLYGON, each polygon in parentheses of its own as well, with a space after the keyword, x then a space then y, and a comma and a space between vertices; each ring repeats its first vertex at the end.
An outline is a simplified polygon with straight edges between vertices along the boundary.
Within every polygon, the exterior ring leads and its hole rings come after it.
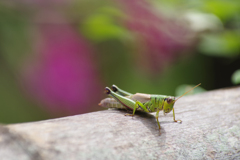
POLYGON ((240 159, 240 87, 185 96, 172 112, 105 110, 2 125, 0 159, 240 159))

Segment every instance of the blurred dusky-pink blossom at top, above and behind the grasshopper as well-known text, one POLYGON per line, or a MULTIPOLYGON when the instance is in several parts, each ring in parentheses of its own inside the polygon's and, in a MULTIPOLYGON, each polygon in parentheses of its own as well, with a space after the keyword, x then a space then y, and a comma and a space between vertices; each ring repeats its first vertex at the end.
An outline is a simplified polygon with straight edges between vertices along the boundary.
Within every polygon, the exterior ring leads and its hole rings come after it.
POLYGON ((154 7, 145 0, 118 2, 127 15, 125 26, 138 37, 141 66, 159 70, 193 44, 189 39, 192 33, 183 23, 154 12, 154 7))

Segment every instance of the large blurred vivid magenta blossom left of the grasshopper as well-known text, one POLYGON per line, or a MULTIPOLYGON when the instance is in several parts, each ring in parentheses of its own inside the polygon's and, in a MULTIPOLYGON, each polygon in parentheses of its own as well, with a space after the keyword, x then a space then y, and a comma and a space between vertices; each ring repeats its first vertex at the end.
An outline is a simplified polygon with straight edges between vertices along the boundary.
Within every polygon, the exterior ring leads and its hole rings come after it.
POLYGON ((25 67, 28 91, 55 113, 89 111, 102 90, 88 45, 67 23, 41 24, 39 35, 38 54, 25 67))

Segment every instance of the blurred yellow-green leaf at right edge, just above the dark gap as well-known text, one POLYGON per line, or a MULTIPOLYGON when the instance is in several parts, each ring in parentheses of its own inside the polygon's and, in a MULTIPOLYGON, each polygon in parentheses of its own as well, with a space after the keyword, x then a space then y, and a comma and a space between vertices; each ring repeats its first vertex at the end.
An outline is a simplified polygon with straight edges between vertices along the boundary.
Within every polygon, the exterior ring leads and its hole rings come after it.
POLYGON ((226 31, 222 34, 202 36, 199 50, 206 55, 218 57, 236 57, 239 55, 240 38, 237 32, 226 31))

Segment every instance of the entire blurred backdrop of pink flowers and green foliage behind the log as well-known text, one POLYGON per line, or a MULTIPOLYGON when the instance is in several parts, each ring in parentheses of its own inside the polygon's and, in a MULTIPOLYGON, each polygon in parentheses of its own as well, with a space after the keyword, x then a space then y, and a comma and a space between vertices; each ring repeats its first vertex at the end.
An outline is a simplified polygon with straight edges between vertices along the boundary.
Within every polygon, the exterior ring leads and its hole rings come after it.
POLYGON ((0 123, 103 110, 112 84, 231 87, 239 69, 239 0, 0 1, 0 123))

